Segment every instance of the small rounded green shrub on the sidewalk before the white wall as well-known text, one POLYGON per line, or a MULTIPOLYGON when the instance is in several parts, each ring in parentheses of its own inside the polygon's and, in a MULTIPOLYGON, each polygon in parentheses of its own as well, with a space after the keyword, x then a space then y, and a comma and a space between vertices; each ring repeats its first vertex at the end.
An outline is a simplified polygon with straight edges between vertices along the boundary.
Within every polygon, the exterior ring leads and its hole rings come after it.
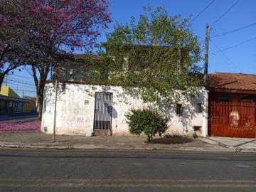
POLYGON ((146 134, 146 142, 150 142, 155 134, 166 132, 168 118, 153 109, 131 110, 125 114, 131 134, 146 134))

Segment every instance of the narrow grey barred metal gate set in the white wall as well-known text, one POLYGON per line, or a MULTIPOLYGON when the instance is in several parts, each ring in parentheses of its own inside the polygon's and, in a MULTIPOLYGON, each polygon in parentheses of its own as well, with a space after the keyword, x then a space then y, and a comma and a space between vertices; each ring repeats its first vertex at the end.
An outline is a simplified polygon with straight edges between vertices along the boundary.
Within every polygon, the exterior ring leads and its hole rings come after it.
POLYGON ((95 115, 93 129, 111 129, 112 100, 112 92, 95 92, 95 115))

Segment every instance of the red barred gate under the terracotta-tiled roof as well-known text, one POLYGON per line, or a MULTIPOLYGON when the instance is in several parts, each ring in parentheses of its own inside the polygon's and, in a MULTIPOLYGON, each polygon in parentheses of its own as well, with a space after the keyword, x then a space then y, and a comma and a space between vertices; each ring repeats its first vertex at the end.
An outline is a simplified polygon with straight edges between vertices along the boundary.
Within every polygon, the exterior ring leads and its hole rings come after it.
POLYGON ((211 136, 256 137, 256 104, 210 102, 208 127, 211 136))

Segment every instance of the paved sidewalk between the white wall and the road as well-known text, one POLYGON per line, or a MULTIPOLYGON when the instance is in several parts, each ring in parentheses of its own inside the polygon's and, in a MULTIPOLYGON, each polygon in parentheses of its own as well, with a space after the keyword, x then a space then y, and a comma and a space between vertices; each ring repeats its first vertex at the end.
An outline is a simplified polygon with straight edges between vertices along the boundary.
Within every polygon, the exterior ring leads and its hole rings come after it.
POLYGON ((146 137, 84 137, 57 135, 56 142, 52 143, 52 135, 38 131, 1 132, 0 147, 34 148, 34 149, 145 149, 145 150, 172 150, 172 151, 250 151, 255 149, 234 150, 209 138, 180 139, 163 138, 154 139, 146 144, 146 137), (164 144, 169 143, 169 144, 164 144))

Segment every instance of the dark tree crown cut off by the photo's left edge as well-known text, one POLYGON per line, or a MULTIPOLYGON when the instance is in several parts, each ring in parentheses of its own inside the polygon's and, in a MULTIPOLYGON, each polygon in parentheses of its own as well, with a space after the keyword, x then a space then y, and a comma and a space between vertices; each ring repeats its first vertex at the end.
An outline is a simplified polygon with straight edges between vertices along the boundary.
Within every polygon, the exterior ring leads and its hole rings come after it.
POLYGON ((4 76, 23 64, 23 43, 28 36, 18 1, 2 0, 0 4, 0 90, 4 76))

